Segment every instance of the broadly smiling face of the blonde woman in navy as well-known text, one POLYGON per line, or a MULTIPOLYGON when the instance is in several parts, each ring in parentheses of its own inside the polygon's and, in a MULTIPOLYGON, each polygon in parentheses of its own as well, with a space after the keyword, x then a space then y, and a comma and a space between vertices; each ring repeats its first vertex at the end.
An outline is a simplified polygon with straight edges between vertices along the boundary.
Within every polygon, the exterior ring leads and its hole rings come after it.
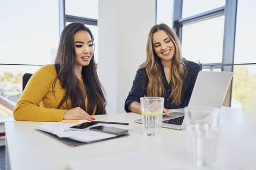
POLYGON ((168 34, 160 30, 152 35, 153 50, 164 61, 171 61, 175 53, 175 46, 168 34))

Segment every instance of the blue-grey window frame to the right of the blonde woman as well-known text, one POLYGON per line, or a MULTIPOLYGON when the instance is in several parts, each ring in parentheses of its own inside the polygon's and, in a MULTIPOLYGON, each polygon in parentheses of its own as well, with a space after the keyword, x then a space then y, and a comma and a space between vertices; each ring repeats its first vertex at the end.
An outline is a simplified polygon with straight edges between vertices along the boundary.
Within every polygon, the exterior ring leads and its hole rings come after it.
MULTIPOLYGON (((235 52, 235 34, 236 34, 236 15, 237 0, 226 0, 225 6, 212 9, 206 12, 198 13, 190 17, 182 18, 183 0, 174 0, 173 28, 180 41, 182 40, 182 27, 185 24, 199 22, 214 17, 223 16, 224 20, 224 37, 223 52, 221 63, 201 63, 203 68, 221 68, 225 72, 233 72, 234 52, 235 52)), ((182 41, 181 41, 182 44, 182 41)), ((232 82, 231 87, 226 95, 228 105, 231 106, 232 82)))

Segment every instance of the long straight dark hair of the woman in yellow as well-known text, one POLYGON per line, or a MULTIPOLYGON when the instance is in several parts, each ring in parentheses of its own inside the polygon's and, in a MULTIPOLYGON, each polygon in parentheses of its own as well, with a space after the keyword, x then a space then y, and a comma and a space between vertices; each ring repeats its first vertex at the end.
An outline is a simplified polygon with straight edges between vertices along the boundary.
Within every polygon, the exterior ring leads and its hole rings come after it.
POLYGON ((61 33, 59 48, 55 60, 55 68, 57 77, 54 80, 54 86, 59 79, 61 87, 66 90, 65 95, 60 101, 58 108, 66 103, 68 109, 80 107, 92 115, 97 105, 96 114, 106 114, 105 106, 105 90, 101 85, 94 61, 94 54, 90 63, 82 67, 82 83, 74 74, 74 67, 77 63, 74 35, 78 31, 86 31, 91 35, 92 43, 94 38, 88 27, 82 23, 71 23, 65 27, 61 33), (85 98, 87 97, 87 108, 85 106, 85 98), (71 102, 70 104, 68 103, 71 102))

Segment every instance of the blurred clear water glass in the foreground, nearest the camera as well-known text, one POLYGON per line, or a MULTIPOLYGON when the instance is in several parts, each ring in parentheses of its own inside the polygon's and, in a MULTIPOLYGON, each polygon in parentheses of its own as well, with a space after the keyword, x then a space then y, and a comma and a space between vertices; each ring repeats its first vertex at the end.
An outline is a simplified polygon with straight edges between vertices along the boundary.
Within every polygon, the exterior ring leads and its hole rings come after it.
POLYGON ((189 157, 197 166, 211 165, 216 159, 220 109, 185 107, 189 157))

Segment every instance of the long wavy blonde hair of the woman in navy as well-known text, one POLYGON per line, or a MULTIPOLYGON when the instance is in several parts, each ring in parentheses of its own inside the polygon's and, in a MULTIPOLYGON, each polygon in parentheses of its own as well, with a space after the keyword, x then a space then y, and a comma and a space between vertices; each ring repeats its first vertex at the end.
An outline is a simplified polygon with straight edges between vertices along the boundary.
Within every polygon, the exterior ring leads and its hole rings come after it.
POLYGON ((153 50, 152 43, 153 33, 156 33, 160 30, 165 31, 168 34, 175 46, 175 53, 173 58, 171 59, 172 76, 170 81, 171 94, 169 96, 169 99, 172 98, 171 104, 178 105, 181 103, 183 80, 186 76, 187 69, 182 57, 180 41, 178 40, 175 32, 166 24, 159 24, 153 26, 148 35, 146 48, 147 59, 146 62, 140 66, 140 68, 146 69, 146 73, 148 76, 146 95, 155 97, 164 97, 166 95, 166 92, 164 90, 163 75, 161 73, 161 59, 156 55, 155 51, 153 50))

